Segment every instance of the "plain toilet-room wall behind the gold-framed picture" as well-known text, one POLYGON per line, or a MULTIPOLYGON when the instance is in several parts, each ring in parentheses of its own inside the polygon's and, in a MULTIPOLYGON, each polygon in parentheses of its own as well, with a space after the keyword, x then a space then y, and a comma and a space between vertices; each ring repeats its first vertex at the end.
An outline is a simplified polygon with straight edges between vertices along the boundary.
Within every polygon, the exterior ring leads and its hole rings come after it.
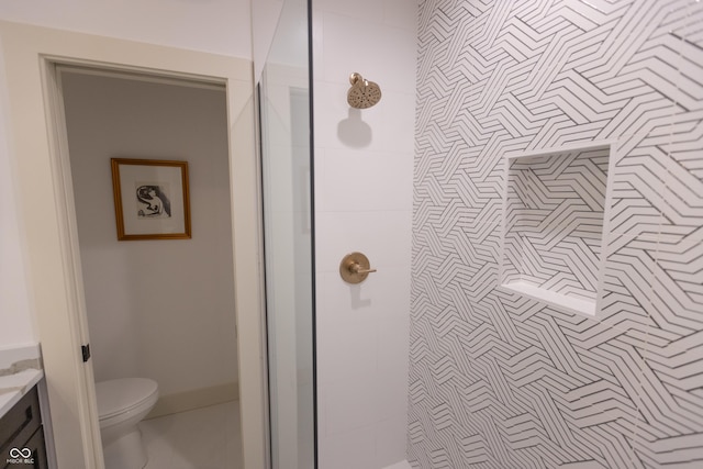
POLYGON ((224 89, 64 74, 97 380, 161 395, 236 381, 224 89), (116 239, 110 158, 187 160, 192 238, 116 239))

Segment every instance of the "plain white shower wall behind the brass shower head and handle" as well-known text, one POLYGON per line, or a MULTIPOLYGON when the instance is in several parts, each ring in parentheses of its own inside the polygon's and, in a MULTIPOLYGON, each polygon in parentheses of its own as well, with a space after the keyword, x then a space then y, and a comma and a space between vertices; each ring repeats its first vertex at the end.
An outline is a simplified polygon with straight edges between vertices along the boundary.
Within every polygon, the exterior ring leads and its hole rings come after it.
POLYGON ((416 2, 313 2, 321 467, 405 458, 416 2), (373 12, 375 14, 369 14, 373 12), (349 74, 381 101, 346 102, 349 74), (378 272, 339 278, 365 253, 378 272))

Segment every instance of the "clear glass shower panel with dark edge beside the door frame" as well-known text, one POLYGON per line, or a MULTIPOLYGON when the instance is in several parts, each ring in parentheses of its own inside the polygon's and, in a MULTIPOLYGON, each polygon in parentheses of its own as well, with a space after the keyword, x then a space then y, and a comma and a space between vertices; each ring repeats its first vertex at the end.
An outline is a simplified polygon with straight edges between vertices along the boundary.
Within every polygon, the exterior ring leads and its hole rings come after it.
POLYGON ((308 31, 306 0, 286 0, 259 83, 274 469, 316 467, 308 31))

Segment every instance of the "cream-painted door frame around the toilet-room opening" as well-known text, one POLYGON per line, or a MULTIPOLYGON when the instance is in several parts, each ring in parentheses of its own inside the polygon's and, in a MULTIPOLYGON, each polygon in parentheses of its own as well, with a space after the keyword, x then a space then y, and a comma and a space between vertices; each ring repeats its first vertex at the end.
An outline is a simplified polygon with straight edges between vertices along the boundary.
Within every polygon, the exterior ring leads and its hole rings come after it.
POLYGON ((92 364, 83 364, 80 355, 89 334, 57 105, 55 65, 64 64, 219 82, 226 89, 244 466, 264 468, 260 214, 250 63, 12 23, 0 24, 0 35, 13 124, 10 147, 58 466, 102 467, 92 364))

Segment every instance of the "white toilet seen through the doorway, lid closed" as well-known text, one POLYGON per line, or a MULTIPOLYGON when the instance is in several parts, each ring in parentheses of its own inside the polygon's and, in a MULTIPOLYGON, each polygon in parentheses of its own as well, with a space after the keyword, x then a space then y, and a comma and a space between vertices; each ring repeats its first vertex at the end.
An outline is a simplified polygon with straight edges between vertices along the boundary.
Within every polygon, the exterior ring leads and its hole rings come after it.
POLYGON ((96 383, 105 469, 142 469, 147 456, 137 427, 158 399, 158 384, 146 378, 96 383))

